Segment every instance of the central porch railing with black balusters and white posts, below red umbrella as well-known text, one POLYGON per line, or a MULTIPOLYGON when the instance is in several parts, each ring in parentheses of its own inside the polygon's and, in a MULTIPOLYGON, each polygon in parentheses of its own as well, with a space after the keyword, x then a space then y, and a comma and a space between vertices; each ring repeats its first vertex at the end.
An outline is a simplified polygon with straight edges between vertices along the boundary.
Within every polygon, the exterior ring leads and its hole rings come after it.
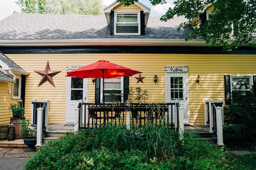
MULTIPOLYGON (((184 121, 184 108, 180 107, 180 105, 178 103, 179 103, 178 100, 175 100, 173 103, 165 103, 165 107, 162 108, 162 109, 164 109, 164 112, 162 112, 163 110, 161 110, 161 109, 159 109, 158 111, 157 111, 157 109, 155 109, 153 111, 154 116, 156 116, 156 115, 160 115, 160 116, 154 117, 153 113, 152 113, 152 115, 151 114, 149 115, 149 112, 150 112, 149 106, 135 105, 135 107, 128 107, 126 105, 122 105, 120 107, 117 107, 118 108, 117 112, 119 114, 116 115, 116 107, 114 107, 113 105, 110 105, 109 108, 108 107, 102 108, 101 105, 98 104, 98 106, 91 108, 90 106, 92 106, 92 103, 82 103, 82 100, 79 100, 78 107, 74 109, 74 122, 75 122, 74 123, 74 131, 78 131, 79 129, 86 128, 86 121, 88 121, 87 128, 89 128, 90 116, 88 116, 88 119, 87 119, 86 115, 85 115, 85 126, 82 127, 83 109, 88 108, 88 109, 94 109, 94 111, 92 111, 92 112, 95 115, 91 115, 91 118, 94 119, 94 121, 96 123, 98 123, 98 119, 99 120, 104 119, 103 123, 106 123, 106 120, 111 119, 111 124, 112 124, 112 119, 116 119, 118 117, 118 115, 121 118, 121 115, 122 115, 121 120, 126 122, 126 128, 129 129, 130 124, 133 124, 133 123, 131 123, 131 119, 136 118, 136 115, 134 117, 134 114, 137 114, 137 117, 139 116, 136 120, 136 125, 137 125, 137 121, 140 122, 139 119, 140 119, 141 115, 144 115, 144 116, 147 115, 149 117, 144 117, 144 121, 143 121, 144 125, 145 125, 146 120, 148 121, 148 123, 155 123, 156 125, 159 123, 160 124, 164 123, 165 125, 171 126, 171 128, 175 128, 176 130, 182 132, 182 131, 184 131, 184 122, 183 122, 184 121), (130 113, 132 113, 132 118, 130 117, 131 116, 130 113), (124 118, 124 115, 126 115, 126 118, 124 118), (159 118, 161 119, 160 122, 158 122, 159 118)), ((85 112, 85 113, 89 113, 89 111, 85 112)), ((143 120, 143 117, 141 118, 141 120, 143 120)), ((94 121, 92 120, 91 122, 93 123, 94 121)), ((101 124, 101 121, 100 121, 100 124, 101 124)), ((91 124, 91 125, 92 125, 92 127, 94 127, 93 124, 91 124)), ((114 124, 114 125, 116 125, 116 124, 114 124)), ((142 125, 142 122, 140 122, 138 124, 138 126, 141 126, 141 125, 142 125)))

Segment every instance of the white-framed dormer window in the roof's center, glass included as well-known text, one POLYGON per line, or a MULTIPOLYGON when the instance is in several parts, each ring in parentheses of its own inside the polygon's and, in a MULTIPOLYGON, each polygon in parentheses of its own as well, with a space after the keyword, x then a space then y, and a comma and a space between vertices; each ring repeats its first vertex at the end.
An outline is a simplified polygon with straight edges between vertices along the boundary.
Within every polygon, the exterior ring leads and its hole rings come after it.
POLYGON ((115 12, 114 35, 140 35, 140 12, 115 12))

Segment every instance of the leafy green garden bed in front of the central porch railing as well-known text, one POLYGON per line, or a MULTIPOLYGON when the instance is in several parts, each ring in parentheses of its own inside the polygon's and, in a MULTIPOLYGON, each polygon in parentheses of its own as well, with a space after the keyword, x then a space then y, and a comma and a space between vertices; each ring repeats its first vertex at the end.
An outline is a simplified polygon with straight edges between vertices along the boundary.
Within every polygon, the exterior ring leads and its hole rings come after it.
POLYGON ((247 164, 251 164, 247 169, 253 168, 249 157, 241 165, 237 165, 239 160, 230 162, 223 148, 196 139, 197 134, 184 133, 181 137, 165 127, 146 130, 147 140, 124 137, 132 131, 120 127, 67 133, 39 149, 26 161, 25 169, 226 170, 231 166, 246 169, 247 164))

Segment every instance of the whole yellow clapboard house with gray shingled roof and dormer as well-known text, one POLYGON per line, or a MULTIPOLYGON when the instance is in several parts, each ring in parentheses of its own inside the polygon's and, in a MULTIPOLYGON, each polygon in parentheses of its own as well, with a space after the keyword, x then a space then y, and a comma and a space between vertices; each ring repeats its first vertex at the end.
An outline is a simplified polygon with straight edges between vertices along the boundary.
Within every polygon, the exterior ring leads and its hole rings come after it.
MULTIPOLYGON (((197 19, 208 19, 211 10, 206 6, 197 19)), ((160 17, 150 17, 150 9, 140 2, 129 7, 114 2, 104 11, 105 16, 14 13, 0 21, 0 50, 29 73, 23 89, 27 119, 32 118, 32 100, 49 100, 49 123, 74 123, 80 99, 101 103, 102 81, 66 77, 69 70, 99 60, 143 72, 143 83, 137 83, 139 75, 106 79, 105 90, 117 90, 120 102, 128 82, 148 91, 147 103, 179 100, 185 124, 206 124, 204 100, 229 104, 235 83, 255 84, 256 50, 249 46, 224 52, 201 39, 185 41, 192 30, 176 30, 185 17, 161 22, 160 17), (40 83, 44 74, 35 71, 43 72, 47 62, 51 71, 60 72, 40 83)), ((8 93, 13 81, 0 82, 1 95, 6 96, 0 101, 0 124, 10 116, 6 103, 14 101, 8 93)))

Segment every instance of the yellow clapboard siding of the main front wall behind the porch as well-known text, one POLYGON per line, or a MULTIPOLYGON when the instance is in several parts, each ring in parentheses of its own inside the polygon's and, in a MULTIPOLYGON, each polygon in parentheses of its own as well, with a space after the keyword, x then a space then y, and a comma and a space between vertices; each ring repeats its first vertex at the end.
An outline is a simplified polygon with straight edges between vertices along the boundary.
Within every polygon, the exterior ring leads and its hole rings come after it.
MULTIPOLYGON (((131 87, 148 90, 147 102, 165 102, 165 66, 188 65, 190 123, 204 123, 204 100, 225 99, 224 75, 256 74, 256 55, 200 55, 200 54, 11 54, 7 55, 30 73, 26 81, 26 118, 31 117, 31 100, 50 100, 50 123, 65 123, 66 66, 84 66, 98 60, 109 60, 142 73, 144 84, 137 84, 137 75, 130 77, 131 87), (41 76, 34 70, 44 70, 47 61, 53 71, 56 87, 48 82, 37 87, 41 76), (158 82, 154 83, 157 74, 158 82), (200 75, 200 84, 196 83, 200 75)), ((1 85, 0 85, 1 86, 1 85)), ((2 89, 2 88, 0 88, 2 89)), ((0 92, 1 93, 1 92, 0 92)), ((95 85, 88 81, 88 102, 95 100, 95 85)))

